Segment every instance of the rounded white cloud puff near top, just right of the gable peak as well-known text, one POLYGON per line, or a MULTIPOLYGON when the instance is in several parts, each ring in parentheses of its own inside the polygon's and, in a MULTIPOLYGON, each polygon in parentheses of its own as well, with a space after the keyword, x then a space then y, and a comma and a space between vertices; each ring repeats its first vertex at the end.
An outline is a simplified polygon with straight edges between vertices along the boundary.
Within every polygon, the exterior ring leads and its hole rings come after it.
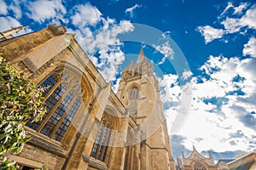
POLYGON ((80 29, 84 26, 96 26, 96 24, 102 20, 102 13, 89 3, 84 5, 78 5, 75 8, 75 14, 71 16, 71 20, 74 26, 78 26, 80 29))

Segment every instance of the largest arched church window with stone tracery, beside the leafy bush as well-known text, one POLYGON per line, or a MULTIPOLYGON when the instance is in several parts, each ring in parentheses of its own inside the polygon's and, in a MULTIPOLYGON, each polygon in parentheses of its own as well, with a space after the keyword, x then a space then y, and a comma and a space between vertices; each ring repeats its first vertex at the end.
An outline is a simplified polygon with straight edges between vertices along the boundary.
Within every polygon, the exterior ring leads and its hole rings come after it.
POLYGON ((46 113, 43 121, 29 121, 26 126, 61 141, 82 103, 79 78, 69 71, 57 70, 41 86, 49 87, 44 92, 46 113))

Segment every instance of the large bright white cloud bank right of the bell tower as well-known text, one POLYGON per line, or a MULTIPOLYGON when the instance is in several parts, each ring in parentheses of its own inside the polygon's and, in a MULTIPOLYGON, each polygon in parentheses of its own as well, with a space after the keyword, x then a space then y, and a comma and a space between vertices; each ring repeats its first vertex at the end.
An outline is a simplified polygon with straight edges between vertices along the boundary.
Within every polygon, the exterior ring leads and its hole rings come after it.
MULTIPOLYGON (((250 151, 256 147, 256 142, 250 142, 256 132, 256 116, 252 114, 256 111, 253 103, 256 99, 255 64, 255 58, 210 56, 201 65, 201 76, 191 79, 191 110, 188 118, 184 116, 183 120, 189 123, 184 123, 176 133, 186 136, 183 139, 186 148, 195 144, 199 151, 212 149, 219 152, 250 151), (242 135, 234 136, 236 132, 242 135)), ((171 76, 160 80, 164 105, 173 101, 176 104, 180 102, 182 87, 175 81, 177 79, 171 76)), ((169 126, 179 114, 177 107, 179 105, 171 105, 165 110, 169 126)))

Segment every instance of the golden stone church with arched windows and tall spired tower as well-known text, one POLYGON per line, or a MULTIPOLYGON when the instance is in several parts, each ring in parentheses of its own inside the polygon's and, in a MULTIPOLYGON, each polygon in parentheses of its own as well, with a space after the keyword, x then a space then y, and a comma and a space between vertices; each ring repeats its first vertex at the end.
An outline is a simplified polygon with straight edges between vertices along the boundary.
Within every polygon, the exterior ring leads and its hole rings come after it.
POLYGON ((32 140, 10 159, 56 170, 175 169, 158 82, 143 50, 123 71, 117 94, 64 26, 2 38, 0 53, 49 86, 47 114, 26 123, 32 140))

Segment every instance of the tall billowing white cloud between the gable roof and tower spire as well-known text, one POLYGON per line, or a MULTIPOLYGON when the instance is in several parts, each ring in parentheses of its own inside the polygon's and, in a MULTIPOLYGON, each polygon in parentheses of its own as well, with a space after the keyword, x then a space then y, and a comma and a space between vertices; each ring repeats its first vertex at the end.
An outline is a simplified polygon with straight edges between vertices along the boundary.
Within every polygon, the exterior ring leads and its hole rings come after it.
POLYGON ((119 65, 125 60, 125 54, 120 50, 122 42, 118 36, 133 31, 134 26, 128 20, 117 23, 109 17, 104 18, 101 12, 89 3, 77 6, 71 21, 79 29, 68 31, 76 34, 77 41, 105 80, 116 82, 119 65), (95 28, 97 31, 94 31, 95 28))

